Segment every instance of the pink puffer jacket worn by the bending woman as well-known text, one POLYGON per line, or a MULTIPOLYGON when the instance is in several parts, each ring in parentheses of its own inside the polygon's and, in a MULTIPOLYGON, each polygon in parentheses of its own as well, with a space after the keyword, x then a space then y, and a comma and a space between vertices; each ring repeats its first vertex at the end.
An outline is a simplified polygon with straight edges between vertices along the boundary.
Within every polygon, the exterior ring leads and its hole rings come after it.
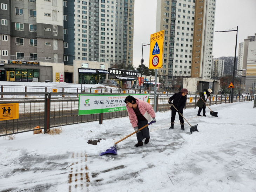
MULTIPOLYGON (((156 114, 155 114, 155 111, 153 110, 152 106, 149 103, 147 103, 146 101, 142 101, 137 98, 135 98, 135 99, 136 99, 136 103, 139 107, 141 114, 148 120, 148 122, 153 121, 152 118, 156 117, 156 114)), ((133 128, 135 128, 136 126, 138 126, 137 125, 137 123, 138 123, 137 116, 132 107, 128 107, 128 105, 126 105, 126 108, 128 111, 130 123, 132 124, 133 128)))

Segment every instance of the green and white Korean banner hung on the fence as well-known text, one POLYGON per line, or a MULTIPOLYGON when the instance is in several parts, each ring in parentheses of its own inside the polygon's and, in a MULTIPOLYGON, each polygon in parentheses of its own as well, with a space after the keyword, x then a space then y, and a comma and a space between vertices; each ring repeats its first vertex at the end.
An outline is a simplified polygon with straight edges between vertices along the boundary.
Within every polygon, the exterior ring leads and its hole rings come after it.
POLYGON ((125 98, 131 95, 143 101, 148 101, 149 94, 120 95, 79 95, 78 115, 89 115, 126 110, 125 98))

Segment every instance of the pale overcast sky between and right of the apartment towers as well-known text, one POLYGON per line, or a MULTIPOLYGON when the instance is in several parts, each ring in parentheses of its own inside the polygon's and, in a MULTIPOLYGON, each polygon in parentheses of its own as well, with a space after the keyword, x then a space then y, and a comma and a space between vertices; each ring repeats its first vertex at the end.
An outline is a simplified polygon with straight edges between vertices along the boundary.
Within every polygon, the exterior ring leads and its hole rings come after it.
MULTIPOLYGON (((134 2, 133 65, 137 68, 141 60, 142 43, 150 43, 150 34, 156 33, 156 0, 134 2)), ((256 0, 216 0, 214 30, 224 31, 238 26, 237 51, 239 43, 256 33, 255 8, 256 0)), ((235 44, 236 32, 214 33, 214 57, 235 56, 235 44)), ((148 67, 149 46, 143 47, 143 59, 148 67)))

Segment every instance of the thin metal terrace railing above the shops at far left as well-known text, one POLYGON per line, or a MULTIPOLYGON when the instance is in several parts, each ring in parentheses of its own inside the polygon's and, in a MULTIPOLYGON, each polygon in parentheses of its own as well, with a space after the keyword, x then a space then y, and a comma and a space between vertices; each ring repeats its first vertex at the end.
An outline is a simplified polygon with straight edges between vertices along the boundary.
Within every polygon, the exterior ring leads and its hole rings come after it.
MULTIPOLYGON (((1 55, 0 54, 1 60, 31 61, 31 58, 32 58, 31 56, 16 56, 16 55, 1 55)), ((33 61, 37 61, 37 62, 63 63, 63 59, 48 60, 48 59, 46 59, 46 57, 33 57, 32 59, 33 59, 33 61)))

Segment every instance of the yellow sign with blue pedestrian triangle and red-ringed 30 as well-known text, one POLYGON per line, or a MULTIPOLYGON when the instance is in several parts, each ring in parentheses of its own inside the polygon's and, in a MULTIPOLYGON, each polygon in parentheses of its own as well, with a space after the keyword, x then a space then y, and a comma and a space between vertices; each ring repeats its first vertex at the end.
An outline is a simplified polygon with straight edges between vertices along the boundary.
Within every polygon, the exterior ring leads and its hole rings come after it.
POLYGON ((150 35, 149 69, 162 68, 164 30, 150 35))

